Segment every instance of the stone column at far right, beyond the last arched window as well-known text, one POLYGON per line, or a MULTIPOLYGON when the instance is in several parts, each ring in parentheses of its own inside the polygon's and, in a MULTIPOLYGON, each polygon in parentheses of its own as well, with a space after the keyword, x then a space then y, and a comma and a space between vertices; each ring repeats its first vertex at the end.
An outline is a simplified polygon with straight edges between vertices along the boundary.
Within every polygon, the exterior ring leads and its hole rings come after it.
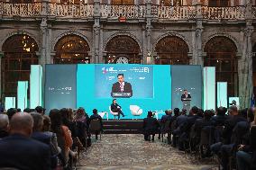
POLYGON ((242 43, 242 58, 238 64, 238 79, 239 79, 239 97, 241 108, 250 106, 252 93, 252 47, 251 35, 253 26, 251 22, 246 23, 246 28, 243 31, 242 43))

